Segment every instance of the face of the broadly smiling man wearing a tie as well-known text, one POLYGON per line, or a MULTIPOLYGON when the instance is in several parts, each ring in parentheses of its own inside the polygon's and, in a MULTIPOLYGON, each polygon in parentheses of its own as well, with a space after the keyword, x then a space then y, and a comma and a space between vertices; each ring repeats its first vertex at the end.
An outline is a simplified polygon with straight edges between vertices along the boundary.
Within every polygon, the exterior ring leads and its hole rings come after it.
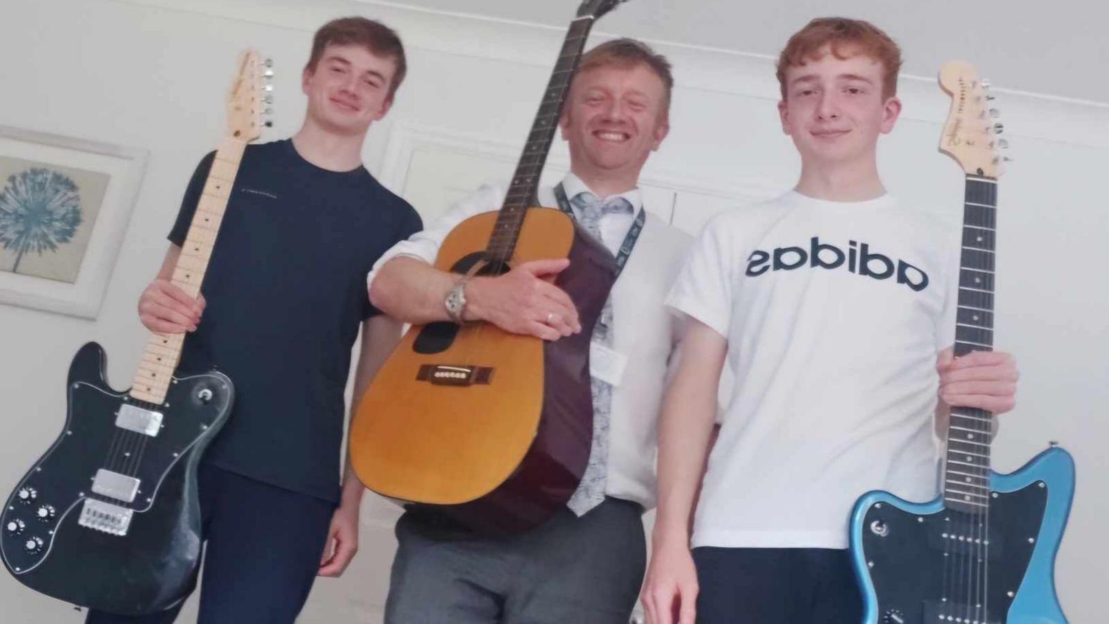
POLYGON ((579 72, 560 125, 579 178, 630 180, 633 187, 670 130, 662 79, 645 63, 579 72))

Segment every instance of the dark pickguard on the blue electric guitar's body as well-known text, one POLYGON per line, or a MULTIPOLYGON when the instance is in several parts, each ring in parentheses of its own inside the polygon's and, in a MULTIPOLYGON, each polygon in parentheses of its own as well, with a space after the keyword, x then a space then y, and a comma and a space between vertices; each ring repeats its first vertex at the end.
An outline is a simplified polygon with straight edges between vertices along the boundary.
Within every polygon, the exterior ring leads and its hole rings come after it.
POLYGON ((863 553, 879 622, 933 624, 947 622, 948 615, 952 622, 960 617, 968 624, 1006 622, 1046 506, 1044 482, 996 493, 986 522, 980 515, 946 509, 922 515, 892 504, 872 506, 863 526, 863 553), (983 525, 988 532, 981 531, 983 525), (986 560, 981 568, 974 565, 979 557, 986 560), (975 608, 978 604, 980 610, 975 608))

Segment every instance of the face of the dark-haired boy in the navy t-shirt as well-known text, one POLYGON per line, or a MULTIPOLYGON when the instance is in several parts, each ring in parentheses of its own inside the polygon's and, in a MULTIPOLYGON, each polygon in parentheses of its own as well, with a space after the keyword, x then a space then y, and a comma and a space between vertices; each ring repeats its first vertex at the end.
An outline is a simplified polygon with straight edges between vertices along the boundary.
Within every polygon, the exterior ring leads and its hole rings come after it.
POLYGON ((308 119, 336 134, 365 134, 393 104, 389 85, 396 71, 391 58, 362 46, 328 46, 315 68, 304 70, 308 119))

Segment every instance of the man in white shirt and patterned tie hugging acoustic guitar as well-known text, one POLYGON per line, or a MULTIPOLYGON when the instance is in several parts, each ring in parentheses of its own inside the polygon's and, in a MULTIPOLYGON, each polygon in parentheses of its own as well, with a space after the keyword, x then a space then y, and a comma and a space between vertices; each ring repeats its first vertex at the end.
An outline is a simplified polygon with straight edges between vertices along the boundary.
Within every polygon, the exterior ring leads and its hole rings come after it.
MULTIPOLYGON (((545 524, 500 539, 407 512, 397 525, 387 623, 628 622, 645 566, 640 516, 654 504, 655 419, 678 340, 662 302, 691 242, 643 212, 637 188, 667 137, 672 84, 667 60, 638 41, 610 41, 584 54, 560 120, 570 173, 558 198, 551 189, 539 192, 540 203, 571 211, 613 255, 634 242, 592 334, 627 365, 613 379, 593 361, 594 441, 581 485, 545 524)), ((454 315, 545 340, 580 332, 569 296, 546 280, 566 269, 564 259, 465 282, 431 265, 456 224, 498 209, 502 199, 502 190, 482 187, 386 252, 369 274, 373 303, 413 323, 454 315)))

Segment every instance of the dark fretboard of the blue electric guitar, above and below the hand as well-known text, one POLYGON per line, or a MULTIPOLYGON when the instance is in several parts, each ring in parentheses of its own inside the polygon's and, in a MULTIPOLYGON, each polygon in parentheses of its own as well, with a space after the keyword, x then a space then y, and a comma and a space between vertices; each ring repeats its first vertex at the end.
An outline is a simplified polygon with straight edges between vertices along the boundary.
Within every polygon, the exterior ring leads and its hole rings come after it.
MULTIPOLYGON (((997 181, 967 175, 963 210, 955 356, 994 350, 994 258, 997 181)), ((952 407, 944 470, 944 505, 973 514, 989 509, 993 414, 952 407)))

